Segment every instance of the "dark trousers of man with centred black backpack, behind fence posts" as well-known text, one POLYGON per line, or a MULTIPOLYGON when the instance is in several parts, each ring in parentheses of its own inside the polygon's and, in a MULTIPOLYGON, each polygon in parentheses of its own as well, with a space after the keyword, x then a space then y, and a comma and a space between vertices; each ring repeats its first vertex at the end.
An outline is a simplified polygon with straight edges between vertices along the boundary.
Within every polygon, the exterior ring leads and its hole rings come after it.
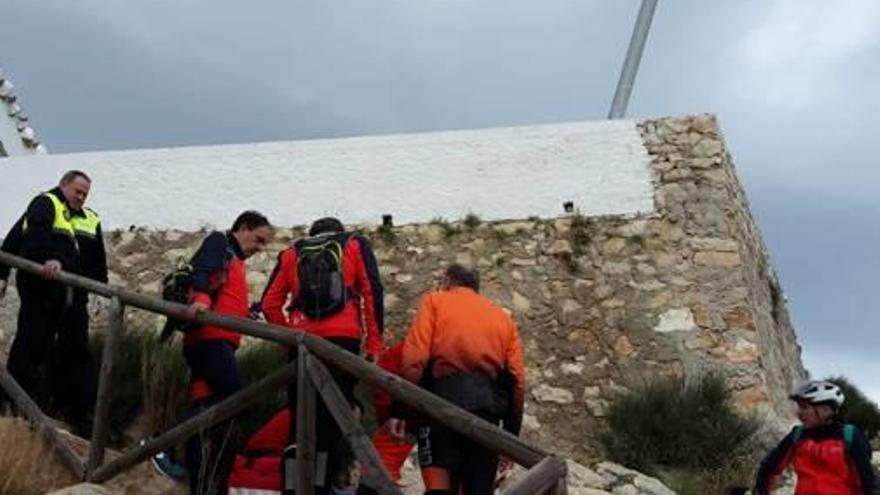
MULTIPOLYGON (((336 344, 342 349, 355 354, 360 355, 361 349, 361 341, 360 339, 352 339, 352 338, 344 338, 344 337, 330 337, 326 340, 336 344)), ((290 352, 290 362, 296 362, 297 351, 296 349, 292 349, 290 352)), ((327 366, 327 370, 330 372, 330 375, 333 377, 333 381, 336 382, 336 385, 339 386, 339 389, 342 391, 342 394, 345 396, 346 400, 348 400, 349 404, 354 403, 354 388, 357 385, 357 378, 348 373, 345 373, 341 370, 338 370, 332 366, 327 366)), ((288 407, 290 409, 290 438, 288 439, 288 444, 296 443, 296 393, 297 393, 297 381, 293 380, 290 386, 287 388, 287 401, 288 407)), ((316 453, 316 461, 321 458, 321 454, 323 453, 327 459, 327 465, 325 469, 325 476, 323 480, 317 480, 316 482, 323 481, 322 486, 318 485, 315 488, 316 494, 328 493, 330 489, 330 482, 333 480, 337 474, 339 474, 343 469, 348 468, 348 464, 351 462, 351 450, 349 446, 344 442, 342 438, 342 432, 339 430, 339 426, 336 425, 336 421, 333 419, 333 415, 330 413, 330 410, 327 409, 327 406, 324 404, 324 401, 321 400, 320 395, 316 398, 315 401, 315 453, 316 453)), ((291 450, 291 452, 293 452, 291 450)), ((285 463, 282 462, 282 466, 285 463)), ((320 468, 317 466, 316 468, 320 468)), ((283 469, 283 467, 282 467, 283 469)), ((283 473, 282 473, 283 474, 283 473)), ((287 485, 287 482, 285 482, 287 485)), ((293 491, 285 490, 285 494, 292 494, 293 491)))

